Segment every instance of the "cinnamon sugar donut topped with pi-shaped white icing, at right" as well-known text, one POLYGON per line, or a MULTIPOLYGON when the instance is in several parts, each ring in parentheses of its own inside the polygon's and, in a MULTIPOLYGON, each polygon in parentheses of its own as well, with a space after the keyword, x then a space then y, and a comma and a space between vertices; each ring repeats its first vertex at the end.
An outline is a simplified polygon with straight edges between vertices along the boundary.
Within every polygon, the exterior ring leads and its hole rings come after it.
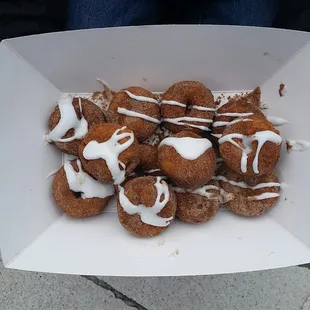
POLYGON ((280 158, 282 138, 265 118, 237 119, 219 139, 221 157, 245 176, 272 173, 280 158))

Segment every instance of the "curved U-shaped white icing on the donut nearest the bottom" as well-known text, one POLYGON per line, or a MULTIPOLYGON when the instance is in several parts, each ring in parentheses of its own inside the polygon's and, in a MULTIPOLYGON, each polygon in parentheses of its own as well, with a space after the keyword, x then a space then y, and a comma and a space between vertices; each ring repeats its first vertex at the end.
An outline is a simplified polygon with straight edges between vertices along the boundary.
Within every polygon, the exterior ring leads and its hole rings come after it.
POLYGON ((138 213, 143 223, 156 227, 166 227, 173 220, 173 216, 169 218, 163 218, 157 214, 166 206, 169 201, 169 188, 167 183, 161 180, 160 177, 157 177, 154 186, 157 190, 157 196, 152 207, 146 207, 143 204, 136 206, 131 203, 125 195, 124 188, 121 186, 119 186, 119 202, 126 213, 130 215, 138 213), (163 200, 161 200, 162 196, 164 196, 163 200))

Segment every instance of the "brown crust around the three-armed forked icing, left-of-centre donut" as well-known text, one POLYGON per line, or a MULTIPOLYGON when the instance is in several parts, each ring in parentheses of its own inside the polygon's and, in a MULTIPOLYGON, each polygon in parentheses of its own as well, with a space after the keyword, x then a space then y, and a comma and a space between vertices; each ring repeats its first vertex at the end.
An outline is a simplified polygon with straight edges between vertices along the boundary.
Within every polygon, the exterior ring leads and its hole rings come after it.
MULTIPOLYGON (((94 160, 87 160, 83 156, 83 151, 86 145, 90 141, 97 141, 99 143, 105 142, 111 138, 113 133, 117 129, 121 129, 122 126, 118 124, 100 124, 97 127, 93 128, 91 131, 87 133, 84 140, 82 141, 80 148, 79 148, 79 157, 81 159, 81 163, 83 169, 93 176, 95 179, 102 183, 113 183, 114 180, 112 179, 112 175, 110 170, 105 162, 104 159, 94 159, 94 160)), ((132 132, 130 129, 126 128, 121 131, 124 132, 132 132)), ((128 139, 122 139, 119 142, 125 143, 128 139)), ((132 173, 139 163, 139 143, 135 139, 134 142, 119 155, 119 160, 126 165, 126 176, 132 173)))

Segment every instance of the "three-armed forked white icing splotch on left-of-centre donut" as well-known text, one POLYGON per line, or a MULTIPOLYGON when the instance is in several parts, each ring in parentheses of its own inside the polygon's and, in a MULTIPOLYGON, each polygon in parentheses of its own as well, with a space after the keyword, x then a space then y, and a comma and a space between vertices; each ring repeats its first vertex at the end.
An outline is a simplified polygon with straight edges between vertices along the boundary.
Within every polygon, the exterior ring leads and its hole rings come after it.
POLYGON ((126 166, 118 159, 118 156, 134 142, 134 135, 132 132, 119 134, 119 132, 124 129, 126 129, 126 127, 117 129, 108 141, 102 143, 90 141, 83 151, 83 156, 87 160, 100 158, 105 160, 111 172, 114 184, 121 184, 125 180, 126 166), (123 144, 120 144, 119 141, 125 138, 129 139, 123 144))

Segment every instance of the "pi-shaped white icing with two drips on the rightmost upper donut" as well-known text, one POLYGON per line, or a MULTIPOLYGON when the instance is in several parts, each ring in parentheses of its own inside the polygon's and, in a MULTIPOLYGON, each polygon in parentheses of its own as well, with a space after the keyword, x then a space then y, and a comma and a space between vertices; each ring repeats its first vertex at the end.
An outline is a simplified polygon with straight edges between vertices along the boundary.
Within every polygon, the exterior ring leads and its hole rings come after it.
POLYGON ((257 149, 256 154, 253 160, 253 171, 254 173, 258 174, 258 159, 259 159, 259 153, 263 145, 268 141, 276 144, 282 143, 282 138, 276 134, 273 131, 270 130, 264 130, 264 131, 258 131, 253 136, 247 137, 243 134, 239 133, 232 133, 223 136, 219 139, 219 144, 230 142, 234 146, 238 147, 242 150, 242 156, 241 156, 241 171, 243 173, 247 172, 247 161, 248 161, 248 154, 252 152, 252 142, 257 141, 257 149), (243 147, 239 145, 236 141, 233 139, 241 139, 243 147))

